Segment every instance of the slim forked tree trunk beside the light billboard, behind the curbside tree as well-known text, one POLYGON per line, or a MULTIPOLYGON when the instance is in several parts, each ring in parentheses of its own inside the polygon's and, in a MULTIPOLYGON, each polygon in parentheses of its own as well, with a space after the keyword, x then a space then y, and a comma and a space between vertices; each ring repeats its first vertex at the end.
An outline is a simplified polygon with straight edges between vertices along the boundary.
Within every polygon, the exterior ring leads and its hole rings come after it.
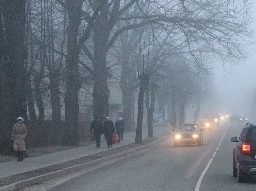
POLYGON ((146 90, 146 108, 147 108, 147 114, 148 114, 148 137, 154 137, 153 136, 153 114, 155 110, 155 92, 156 92, 156 84, 151 85, 151 100, 149 105, 149 88, 146 90))

